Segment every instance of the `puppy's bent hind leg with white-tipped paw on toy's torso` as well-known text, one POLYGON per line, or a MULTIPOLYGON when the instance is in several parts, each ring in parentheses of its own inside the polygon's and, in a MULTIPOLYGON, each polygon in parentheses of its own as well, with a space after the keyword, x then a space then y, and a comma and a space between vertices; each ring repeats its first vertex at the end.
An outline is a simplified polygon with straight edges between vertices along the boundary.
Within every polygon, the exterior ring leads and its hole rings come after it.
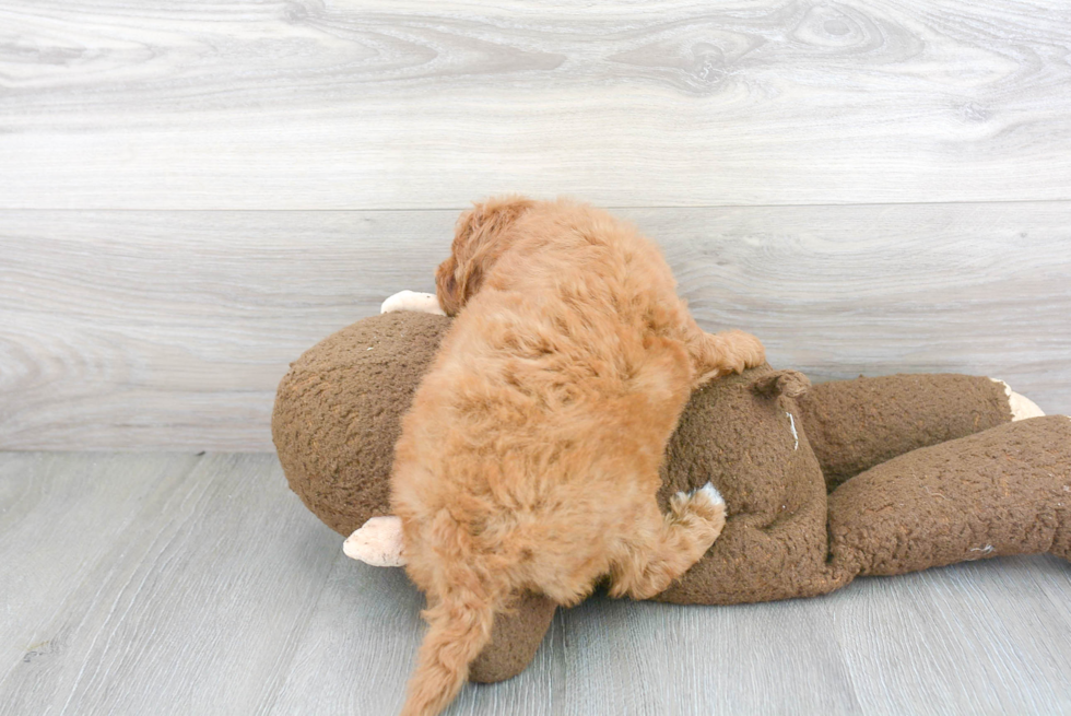
POLYGON ((676 493, 670 512, 652 505, 650 524, 635 530, 611 567, 610 595, 648 599, 699 561, 726 524, 726 503, 709 482, 676 493))

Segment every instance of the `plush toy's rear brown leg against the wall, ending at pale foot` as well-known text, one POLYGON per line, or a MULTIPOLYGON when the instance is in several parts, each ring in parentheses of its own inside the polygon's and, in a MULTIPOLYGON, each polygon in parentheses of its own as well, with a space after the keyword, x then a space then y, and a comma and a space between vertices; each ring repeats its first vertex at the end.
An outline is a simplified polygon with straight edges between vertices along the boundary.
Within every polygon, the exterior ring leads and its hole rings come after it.
POLYGON ((835 380, 799 398, 799 418, 833 491, 897 455, 1011 421, 1004 387, 954 374, 835 380))

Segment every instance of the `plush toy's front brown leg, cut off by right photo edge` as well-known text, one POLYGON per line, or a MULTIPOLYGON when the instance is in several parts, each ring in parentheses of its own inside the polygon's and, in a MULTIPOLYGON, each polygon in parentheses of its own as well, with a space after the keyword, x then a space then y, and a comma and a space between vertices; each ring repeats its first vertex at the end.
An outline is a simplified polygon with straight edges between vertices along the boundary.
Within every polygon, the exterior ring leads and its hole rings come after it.
POLYGON ((926 447, 828 501, 835 574, 902 574, 1002 554, 1071 559, 1071 419, 1034 418, 926 447))

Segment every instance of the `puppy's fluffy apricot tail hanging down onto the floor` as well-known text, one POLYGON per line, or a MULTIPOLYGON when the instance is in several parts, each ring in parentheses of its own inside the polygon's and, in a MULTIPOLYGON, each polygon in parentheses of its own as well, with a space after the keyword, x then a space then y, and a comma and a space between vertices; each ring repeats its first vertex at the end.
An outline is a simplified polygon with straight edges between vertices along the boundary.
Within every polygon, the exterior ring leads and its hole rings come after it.
POLYGON ((428 630, 402 716, 434 716, 443 711, 468 680, 469 665, 491 641, 498 599, 486 580, 463 564, 440 576, 442 588, 428 595, 431 606, 423 612, 428 630))

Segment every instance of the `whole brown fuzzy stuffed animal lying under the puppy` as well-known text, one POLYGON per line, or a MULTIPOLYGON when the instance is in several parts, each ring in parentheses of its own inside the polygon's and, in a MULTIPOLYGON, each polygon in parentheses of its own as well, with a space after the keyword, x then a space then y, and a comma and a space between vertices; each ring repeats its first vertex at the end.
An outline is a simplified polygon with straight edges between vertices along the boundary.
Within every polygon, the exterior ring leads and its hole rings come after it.
MULTIPOLYGON (((308 350, 279 386, 272 434, 291 488, 340 535, 362 528, 346 551, 373 564, 402 563, 388 516, 393 444, 449 324, 366 318, 308 350)), ((664 510, 674 492, 710 481, 729 518, 658 599, 766 601, 1003 554, 1071 559, 1071 419, 1040 414, 1003 384, 962 375, 811 387, 762 366, 716 380, 681 418, 659 500, 664 510)), ((470 679, 523 670, 554 609, 521 597, 470 679)))

